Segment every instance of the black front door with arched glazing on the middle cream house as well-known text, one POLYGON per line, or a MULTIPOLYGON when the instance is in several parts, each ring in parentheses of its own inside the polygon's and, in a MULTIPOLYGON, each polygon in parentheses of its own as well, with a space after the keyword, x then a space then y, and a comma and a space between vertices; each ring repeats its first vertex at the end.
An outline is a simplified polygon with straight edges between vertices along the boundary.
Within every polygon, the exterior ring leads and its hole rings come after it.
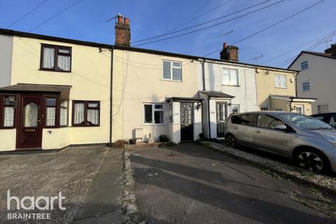
POLYGON ((194 140, 193 104, 181 103, 181 141, 194 140))

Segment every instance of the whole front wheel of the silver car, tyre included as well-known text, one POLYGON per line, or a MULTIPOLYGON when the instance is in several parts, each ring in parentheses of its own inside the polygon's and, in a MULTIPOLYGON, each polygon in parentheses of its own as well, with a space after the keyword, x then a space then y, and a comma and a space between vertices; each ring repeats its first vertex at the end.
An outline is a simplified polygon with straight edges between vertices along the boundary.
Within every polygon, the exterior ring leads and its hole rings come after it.
POLYGON ((299 167, 307 169, 311 172, 325 173, 330 169, 330 162, 328 158, 315 150, 301 150, 297 153, 295 160, 299 167))

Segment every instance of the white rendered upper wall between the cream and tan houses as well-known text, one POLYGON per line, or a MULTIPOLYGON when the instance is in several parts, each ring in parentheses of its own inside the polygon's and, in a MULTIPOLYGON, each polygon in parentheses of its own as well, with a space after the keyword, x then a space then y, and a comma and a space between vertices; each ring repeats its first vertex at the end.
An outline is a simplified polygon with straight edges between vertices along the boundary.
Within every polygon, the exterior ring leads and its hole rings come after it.
MULTIPOLYGON (((202 72, 201 69, 202 67, 199 66, 199 73, 202 72)), ((204 70, 205 89, 207 91, 224 92, 234 96, 235 98, 232 99, 232 104, 239 104, 240 112, 258 110, 257 91, 255 87, 255 69, 229 63, 205 62, 204 70), (237 70, 239 86, 222 85, 222 69, 237 70)), ((199 84, 199 90, 202 90, 200 86, 202 85, 199 84)))

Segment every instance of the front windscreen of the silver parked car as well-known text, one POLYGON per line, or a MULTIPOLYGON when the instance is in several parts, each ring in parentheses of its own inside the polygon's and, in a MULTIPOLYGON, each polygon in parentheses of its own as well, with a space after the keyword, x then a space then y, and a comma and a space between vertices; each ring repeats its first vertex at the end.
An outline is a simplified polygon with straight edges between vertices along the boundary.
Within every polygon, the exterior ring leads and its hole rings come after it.
POLYGON ((280 113, 279 116, 289 120, 294 125, 307 130, 332 129, 330 125, 327 125, 321 120, 316 120, 314 118, 303 116, 297 113, 280 113))

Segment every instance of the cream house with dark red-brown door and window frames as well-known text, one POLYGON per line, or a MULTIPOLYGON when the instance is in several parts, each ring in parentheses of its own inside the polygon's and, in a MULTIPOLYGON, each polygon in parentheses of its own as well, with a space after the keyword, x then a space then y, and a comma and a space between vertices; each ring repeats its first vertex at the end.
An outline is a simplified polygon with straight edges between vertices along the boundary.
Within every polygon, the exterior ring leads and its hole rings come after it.
POLYGON ((0 151, 110 141, 106 45, 0 29, 0 151))

